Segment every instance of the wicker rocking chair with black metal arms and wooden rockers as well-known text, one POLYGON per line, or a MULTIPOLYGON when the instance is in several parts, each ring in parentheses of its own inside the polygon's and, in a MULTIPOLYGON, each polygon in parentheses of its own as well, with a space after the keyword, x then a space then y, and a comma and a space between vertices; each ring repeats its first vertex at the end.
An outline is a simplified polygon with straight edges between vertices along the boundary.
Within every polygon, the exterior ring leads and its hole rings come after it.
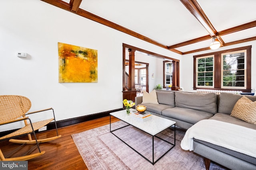
POLYGON ((16 161, 16 160, 29 160, 29 159, 35 158, 45 153, 45 151, 40 150, 39 143, 52 141, 54 139, 61 137, 61 135, 58 135, 54 110, 52 108, 27 113, 30 107, 31 107, 30 100, 24 96, 14 96, 14 95, 0 96, 0 126, 18 122, 18 121, 24 121, 24 127, 18 130, 16 129, 16 131, 0 137, 0 141, 10 139, 9 142, 19 143, 22 145, 36 144, 39 150, 39 152, 35 154, 26 155, 28 152, 30 152, 28 151, 24 156, 5 158, 4 154, 0 149, 0 160, 16 161), (28 117, 29 114, 38 113, 46 110, 52 110, 53 118, 32 123, 31 119, 28 117), (35 131, 40 129, 41 127, 44 127, 45 125, 47 125, 53 120, 55 122, 57 136, 50 137, 47 139, 37 139, 35 131), (32 139, 31 134, 34 135, 34 139, 32 139), (12 139, 14 137, 20 137, 22 135, 28 135, 28 140, 12 139))

